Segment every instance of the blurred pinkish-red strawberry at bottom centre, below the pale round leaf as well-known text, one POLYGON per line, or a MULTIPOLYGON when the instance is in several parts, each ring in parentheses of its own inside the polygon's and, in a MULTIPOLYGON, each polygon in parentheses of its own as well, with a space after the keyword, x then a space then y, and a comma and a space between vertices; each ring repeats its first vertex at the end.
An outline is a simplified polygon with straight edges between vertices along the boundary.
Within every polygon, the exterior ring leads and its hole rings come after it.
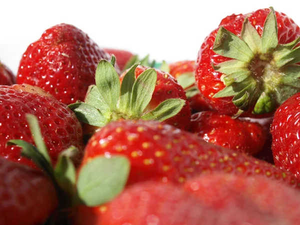
POLYGON ((105 205, 79 207, 75 218, 76 225, 287 224, 279 222, 284 220, 263 214, 252 205, 212 210, 179 187, 156 182, 132 185, 105 205))

